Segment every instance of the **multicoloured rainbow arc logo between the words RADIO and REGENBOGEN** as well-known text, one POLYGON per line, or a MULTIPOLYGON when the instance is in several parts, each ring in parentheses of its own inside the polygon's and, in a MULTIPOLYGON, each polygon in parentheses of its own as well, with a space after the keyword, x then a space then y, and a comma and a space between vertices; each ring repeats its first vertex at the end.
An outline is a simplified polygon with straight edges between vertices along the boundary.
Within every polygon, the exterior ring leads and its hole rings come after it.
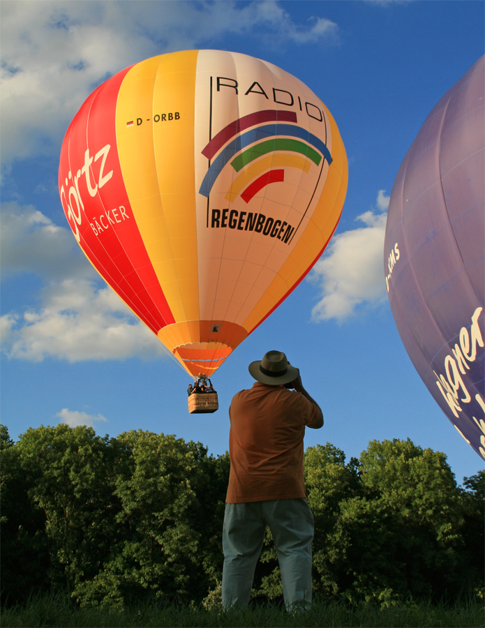
POLYGON ((209 197, 227 163, 239 174, 225 198, 233 202, 240 195, 246 203, 265 186, 284 181, 285 167, 308 172, 311 163, 320 165, 322 158, 330 165, 332 158, 324 142, 297 122, 295 112, 262 110, 225 126, 202 151, 211 164, 199 193, 209 197))

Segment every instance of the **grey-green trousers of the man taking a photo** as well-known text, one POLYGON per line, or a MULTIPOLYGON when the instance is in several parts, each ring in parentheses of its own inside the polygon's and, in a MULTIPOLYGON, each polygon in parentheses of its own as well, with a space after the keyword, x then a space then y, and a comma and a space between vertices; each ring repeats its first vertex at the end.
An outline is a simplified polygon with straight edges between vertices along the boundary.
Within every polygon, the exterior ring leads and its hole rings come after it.
POLYGON ((306 499, 225 504, 223 608, 248 606, 264 530, 273 534, 285 606, 311 606, 313 514, 306 499))

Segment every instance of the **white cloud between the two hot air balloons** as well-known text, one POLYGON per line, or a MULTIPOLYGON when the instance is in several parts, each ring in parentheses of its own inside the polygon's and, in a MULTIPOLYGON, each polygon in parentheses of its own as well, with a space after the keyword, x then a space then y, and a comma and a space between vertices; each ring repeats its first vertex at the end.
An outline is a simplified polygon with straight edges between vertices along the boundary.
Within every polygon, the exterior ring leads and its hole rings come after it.
POLYGON ((379 190, 377 210, 357 217, 366 226, 335 235, 313 267, 309 279, 321 290, 312 311, 315 322, 331 318, 341 322, 359 306, 385 301, 382 260, 388 205, 389 196, 379 190))

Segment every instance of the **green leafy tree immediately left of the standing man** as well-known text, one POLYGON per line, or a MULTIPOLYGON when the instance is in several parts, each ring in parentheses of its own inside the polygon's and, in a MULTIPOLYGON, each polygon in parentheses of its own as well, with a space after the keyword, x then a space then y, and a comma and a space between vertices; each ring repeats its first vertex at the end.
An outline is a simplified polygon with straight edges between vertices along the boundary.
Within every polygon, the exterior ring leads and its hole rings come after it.
POLYGON ((220 534, 225 460, 218 469, 200 443, 163 434, 131 431, 119 442, 130 459, 116 482, 117 541, 103 569, 75 594, 83 604, 119 606, 147 596, 202 599, 220 577, 214 523, 220 534))

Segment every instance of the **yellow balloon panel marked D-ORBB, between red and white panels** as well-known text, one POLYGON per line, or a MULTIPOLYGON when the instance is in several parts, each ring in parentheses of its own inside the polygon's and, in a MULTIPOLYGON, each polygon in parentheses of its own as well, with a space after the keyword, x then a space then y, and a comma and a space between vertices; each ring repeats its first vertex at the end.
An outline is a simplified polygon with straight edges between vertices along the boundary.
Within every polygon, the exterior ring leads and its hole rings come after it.
POLYGON ((118 139, 121 170, 133 214, 177 321, 198 318, 191 167, 196 61, 191 51, 137 63, 121 84, 117 108, 117 128, 124 131, 118 139), (126 133, 124 121, 132 118, 137 126, 126 133))

